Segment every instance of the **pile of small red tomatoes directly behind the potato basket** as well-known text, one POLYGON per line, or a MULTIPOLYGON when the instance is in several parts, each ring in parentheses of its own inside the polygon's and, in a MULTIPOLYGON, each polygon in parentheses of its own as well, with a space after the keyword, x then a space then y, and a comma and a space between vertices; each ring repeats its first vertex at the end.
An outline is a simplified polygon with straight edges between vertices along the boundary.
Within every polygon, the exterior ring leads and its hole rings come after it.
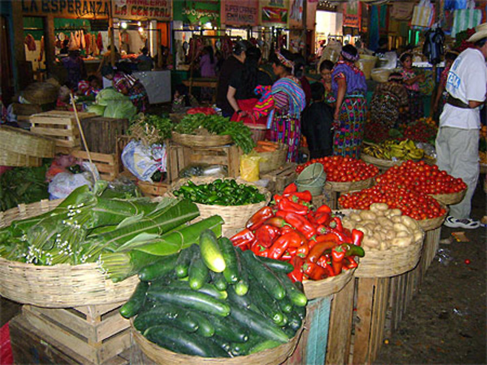
POLYGON ((400 209, 403 215, 415 220, 436 218, 446 212, 430 195, 405 186, 399 187, 395 182, 384 182, 369 189, 342 195, 338 202, 344 209, 369 209, 373 203, 385 203, 390 209, 400 209))

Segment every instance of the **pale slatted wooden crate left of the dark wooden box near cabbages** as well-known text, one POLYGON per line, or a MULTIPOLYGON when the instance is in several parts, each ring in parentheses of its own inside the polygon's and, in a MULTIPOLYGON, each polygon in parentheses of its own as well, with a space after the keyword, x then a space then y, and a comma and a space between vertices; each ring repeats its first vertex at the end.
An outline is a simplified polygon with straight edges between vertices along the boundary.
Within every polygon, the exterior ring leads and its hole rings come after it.
MULTIPOLYGON (((80 120, 94 116, 94 113, 78 113, 80 120)), ((79 128, 74 112, 52 110, 33 114, 29 120, 31 132, 55 138, 56 146, 68 148, 80 146, 79 128)))

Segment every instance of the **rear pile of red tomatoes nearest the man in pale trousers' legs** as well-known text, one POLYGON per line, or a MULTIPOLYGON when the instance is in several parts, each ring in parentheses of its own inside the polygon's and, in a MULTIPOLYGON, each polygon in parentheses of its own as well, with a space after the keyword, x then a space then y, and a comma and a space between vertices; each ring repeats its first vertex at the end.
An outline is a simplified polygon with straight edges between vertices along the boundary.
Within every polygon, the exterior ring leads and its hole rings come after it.
POLYGON ((449 194, 467 189, 462 179, 456 179, 439 170, 438 166, 430 166, 424 161, 409 160, 401 166, 393 166, 375 180, 379 185, 397 185, 426 194, 449 194))

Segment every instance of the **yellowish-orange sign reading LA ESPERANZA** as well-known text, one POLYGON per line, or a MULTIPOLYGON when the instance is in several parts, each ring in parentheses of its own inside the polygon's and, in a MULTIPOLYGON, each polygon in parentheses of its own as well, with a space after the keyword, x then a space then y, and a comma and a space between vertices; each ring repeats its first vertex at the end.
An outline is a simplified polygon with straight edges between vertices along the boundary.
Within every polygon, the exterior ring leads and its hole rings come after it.
POLYGON ((62 17, 110 16, 109 0, 21 0, 22 13, 62 17))

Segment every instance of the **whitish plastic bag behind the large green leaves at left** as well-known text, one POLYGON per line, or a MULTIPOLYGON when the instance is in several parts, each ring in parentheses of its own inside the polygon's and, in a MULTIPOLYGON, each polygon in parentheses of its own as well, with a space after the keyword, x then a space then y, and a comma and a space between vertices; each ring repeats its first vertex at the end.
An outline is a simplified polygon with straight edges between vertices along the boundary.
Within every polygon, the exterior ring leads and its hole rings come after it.
POLYGON ((96 169, 96 166, 94 166, 94 164, 90 166, 89 162, 83 162, 82 168, 85 171, 80 174, 72 174, 72 173, 56 174, 56 176, 54 176, 51 182, 49 183, 49 187, 48 187, 48 191, 50 194, 49 198, 50 199, 65 198, 66 196, 71 194, 73 190, 83 185, 88 185, 90 189, 92 189, 94 185, 94 178, 90 170, 93 171, 96 179, 99 179, 100 175, 98 174, 98 170, 96 169))

